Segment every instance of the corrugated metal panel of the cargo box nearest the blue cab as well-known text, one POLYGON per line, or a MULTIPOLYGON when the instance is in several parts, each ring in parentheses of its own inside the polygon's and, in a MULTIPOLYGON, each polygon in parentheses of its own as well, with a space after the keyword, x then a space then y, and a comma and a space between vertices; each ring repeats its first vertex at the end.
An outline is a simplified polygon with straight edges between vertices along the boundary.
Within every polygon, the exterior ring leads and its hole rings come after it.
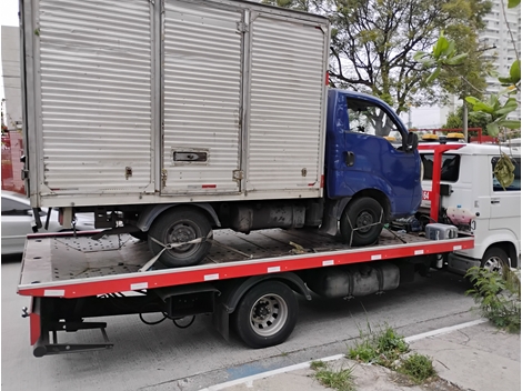
POLYGON ((251 31, 247 190, 317 192, 322 164, 324 33, 314 26, 263 16, 253 21, 251 31))

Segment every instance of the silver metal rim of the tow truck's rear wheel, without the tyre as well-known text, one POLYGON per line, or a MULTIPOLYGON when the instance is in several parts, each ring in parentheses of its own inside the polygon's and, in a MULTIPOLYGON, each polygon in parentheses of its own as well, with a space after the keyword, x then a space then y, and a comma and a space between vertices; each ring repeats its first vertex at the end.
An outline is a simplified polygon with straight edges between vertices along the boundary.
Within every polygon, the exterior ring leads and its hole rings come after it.
POLYGON ((288 319, 287 302, 278 294, 265 294, 250 310, 250 327, 261 337, 279 332, 288 319))

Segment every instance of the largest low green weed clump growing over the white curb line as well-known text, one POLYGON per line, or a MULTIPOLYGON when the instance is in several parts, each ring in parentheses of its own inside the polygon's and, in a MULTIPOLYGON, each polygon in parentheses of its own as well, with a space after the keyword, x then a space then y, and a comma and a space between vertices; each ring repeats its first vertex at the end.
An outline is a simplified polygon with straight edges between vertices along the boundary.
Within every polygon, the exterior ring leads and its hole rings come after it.
POLYGON ((388 324, 377 332, 369 328, 367 335, 362 331, 360 331, 360 334, 362 341, 357 342, 354 348, 349 349, 349 359, 393 368, 394 362, 399 360, 401 354, 406 353, 410 349, 404 338, 388 324))

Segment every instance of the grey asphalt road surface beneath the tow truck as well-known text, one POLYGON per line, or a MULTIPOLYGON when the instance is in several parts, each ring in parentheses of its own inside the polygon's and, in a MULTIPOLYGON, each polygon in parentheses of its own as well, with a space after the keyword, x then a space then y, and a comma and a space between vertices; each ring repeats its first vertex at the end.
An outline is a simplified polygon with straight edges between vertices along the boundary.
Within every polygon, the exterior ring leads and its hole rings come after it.
MULTIPOLYGON (((433 272, 384 294, 361 299, 300 300, 298 325, 278 347, 252 350, 238 339, 224 341, 210 317, 188 329, 171 321, 147 325, 138 315, 101 318, 114 349, 37 359, 29 344, 30 299, 16 293, 20 263, 2 258, 2 390, 183 390, 347 352, 367 324, 388 323, 403 335, 478 319, 470 311, 462 278, 433 272)), ((63 334, 62 341, 102 341, 96 330, 63 334), (63 338, 64 337, 64 338, 63 338)))

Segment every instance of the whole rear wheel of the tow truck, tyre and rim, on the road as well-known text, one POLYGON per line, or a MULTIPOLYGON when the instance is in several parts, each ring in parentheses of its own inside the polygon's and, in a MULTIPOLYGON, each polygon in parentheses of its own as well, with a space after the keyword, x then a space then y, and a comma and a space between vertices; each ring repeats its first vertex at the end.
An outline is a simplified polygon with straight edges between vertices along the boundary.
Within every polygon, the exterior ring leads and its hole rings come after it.
POLYGON ((233 313, 233 325, 251 348, 268 348, 290 337, 298 321, 298 300, 282 282, 265 281, 252 287, 233 313))

